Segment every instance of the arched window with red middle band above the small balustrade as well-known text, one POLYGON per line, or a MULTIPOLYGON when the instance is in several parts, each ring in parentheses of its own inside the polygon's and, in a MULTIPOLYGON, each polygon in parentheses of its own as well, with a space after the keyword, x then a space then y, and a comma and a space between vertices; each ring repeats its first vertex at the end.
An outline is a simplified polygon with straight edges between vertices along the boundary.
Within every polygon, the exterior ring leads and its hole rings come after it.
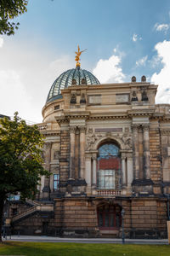
POLYGON ((99 147, 98 189, 120 189, 121 160, 119 154, 119 148, 113 143, 105 143, 99 147))

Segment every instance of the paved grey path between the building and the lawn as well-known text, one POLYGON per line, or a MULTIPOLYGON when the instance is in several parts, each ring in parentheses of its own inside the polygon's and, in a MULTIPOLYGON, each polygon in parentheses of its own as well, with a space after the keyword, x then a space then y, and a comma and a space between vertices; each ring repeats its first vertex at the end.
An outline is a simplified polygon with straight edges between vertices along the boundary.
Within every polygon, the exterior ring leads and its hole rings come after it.
MULTIPOLYGON (((56 236, 7 236, 3 241, 41 241, 77 243, 122 243, 120 238, 61 238, 56 236)), ((125 239, 128 244, 168 244, 167 239, 125 239)))

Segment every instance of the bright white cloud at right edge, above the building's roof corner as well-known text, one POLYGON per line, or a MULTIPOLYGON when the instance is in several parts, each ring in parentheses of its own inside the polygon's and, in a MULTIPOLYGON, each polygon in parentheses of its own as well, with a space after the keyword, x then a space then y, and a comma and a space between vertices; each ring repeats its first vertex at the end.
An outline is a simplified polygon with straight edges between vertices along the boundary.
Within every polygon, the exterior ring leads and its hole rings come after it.
POLYGON ((154 73, 150 79, 151 82, 159 85, 156 103, 170 103, 170 41, 164 40, 156 44, 155 49, 163 65, 160 73, 154 73))

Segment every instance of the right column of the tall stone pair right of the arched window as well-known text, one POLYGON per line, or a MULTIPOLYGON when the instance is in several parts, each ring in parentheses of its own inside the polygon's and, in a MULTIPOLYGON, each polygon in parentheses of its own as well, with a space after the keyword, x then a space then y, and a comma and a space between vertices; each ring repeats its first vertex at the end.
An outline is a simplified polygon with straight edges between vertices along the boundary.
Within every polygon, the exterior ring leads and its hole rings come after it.
POLYGON ((144 131, 144 177, 150 179, 150 134, 149 124, 143 125, 144 131))

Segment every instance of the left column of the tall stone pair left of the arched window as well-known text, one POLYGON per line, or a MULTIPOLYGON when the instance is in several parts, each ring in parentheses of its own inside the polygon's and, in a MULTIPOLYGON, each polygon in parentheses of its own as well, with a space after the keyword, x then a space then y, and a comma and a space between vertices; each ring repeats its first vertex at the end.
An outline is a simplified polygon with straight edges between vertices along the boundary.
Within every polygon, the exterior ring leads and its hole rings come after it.
POLYGON ((70 143, 71 143, 71 153, 70 153, 70 178, 74 178, 75 172, 75 127, 70 127, 70 143))

